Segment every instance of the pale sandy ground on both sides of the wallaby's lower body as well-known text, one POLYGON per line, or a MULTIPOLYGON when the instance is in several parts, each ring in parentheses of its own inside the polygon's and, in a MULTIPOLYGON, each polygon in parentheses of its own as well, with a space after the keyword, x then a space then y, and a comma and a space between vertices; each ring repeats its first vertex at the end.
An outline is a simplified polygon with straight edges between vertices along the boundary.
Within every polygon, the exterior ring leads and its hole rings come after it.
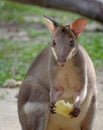
MULTIPOLYGON (((98 109, 93 130, 103 130, 103 69, 97 69, 98 109)), ((0 88, 0 130, 21 130, 18 114, 18 88, 0 88)))

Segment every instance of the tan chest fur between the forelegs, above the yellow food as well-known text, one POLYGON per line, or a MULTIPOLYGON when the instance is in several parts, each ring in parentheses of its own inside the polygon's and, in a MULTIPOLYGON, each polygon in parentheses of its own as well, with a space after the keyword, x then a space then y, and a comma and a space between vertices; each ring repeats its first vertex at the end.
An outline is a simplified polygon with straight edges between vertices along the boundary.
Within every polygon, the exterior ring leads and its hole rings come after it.
POLYGON ((64 67, 59 67, 56 73, 55 86, 57 89, 62 87, 64 92, 61 99, 73 98, 74 93, 80 89, 79 70, 72 64, 66 64, 64 67))

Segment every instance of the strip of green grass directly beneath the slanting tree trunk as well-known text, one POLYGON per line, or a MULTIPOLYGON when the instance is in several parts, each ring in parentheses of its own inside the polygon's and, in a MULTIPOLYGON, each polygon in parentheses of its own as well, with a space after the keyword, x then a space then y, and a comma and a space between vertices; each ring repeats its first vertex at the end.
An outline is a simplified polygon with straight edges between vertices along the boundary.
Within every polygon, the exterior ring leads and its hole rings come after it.
POLYGON ((60 23, 67 24, 70 20, 78 18, 79 15, 66 12, 66 11, 57 11, 57 10, 48 10, 46 8, 39 8, 32 5, 23 5, 12 2, 0 1, 0 16, 1 20, 13 20, 19 23, 25 22, 25 18, 32 17, 31 22, 43 23, 42 16, 45 14, 47 16, 57 19, 60 23), (68 17, 66 17, 68 16, 68 17), (69 21, 68 21, 69 20, 69 21))

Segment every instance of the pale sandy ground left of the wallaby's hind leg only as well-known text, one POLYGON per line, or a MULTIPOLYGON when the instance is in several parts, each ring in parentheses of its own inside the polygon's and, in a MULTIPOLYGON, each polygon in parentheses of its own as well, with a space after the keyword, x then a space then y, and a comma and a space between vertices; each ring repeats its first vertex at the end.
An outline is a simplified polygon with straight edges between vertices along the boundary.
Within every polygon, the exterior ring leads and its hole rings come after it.
POLYGON ((17 116, 18 89, 0 89, 0 130, 20 130, 17 116))

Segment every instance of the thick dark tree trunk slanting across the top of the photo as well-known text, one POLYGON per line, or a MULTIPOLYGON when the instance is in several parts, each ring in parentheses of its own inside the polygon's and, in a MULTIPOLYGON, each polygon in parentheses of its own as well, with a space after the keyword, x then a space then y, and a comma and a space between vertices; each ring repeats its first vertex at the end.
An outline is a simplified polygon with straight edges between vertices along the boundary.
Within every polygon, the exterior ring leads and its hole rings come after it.
POLYGON ((103 24, 103 3, 96 0, 10 0, 79 13, 103 24))

